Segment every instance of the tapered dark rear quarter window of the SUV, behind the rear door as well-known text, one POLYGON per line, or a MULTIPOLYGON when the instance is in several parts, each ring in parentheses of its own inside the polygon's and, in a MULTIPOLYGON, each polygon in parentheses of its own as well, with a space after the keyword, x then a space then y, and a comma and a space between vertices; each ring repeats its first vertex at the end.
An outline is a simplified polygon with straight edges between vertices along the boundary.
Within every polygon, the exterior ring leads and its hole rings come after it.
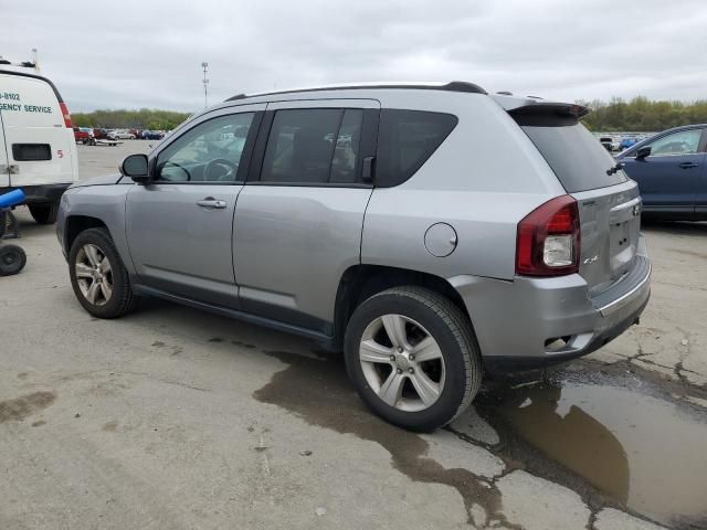
POLYGON ((381 110, 376 184, 398 186, 412 177, 442 145, 457 121, 452 114, 381 110))

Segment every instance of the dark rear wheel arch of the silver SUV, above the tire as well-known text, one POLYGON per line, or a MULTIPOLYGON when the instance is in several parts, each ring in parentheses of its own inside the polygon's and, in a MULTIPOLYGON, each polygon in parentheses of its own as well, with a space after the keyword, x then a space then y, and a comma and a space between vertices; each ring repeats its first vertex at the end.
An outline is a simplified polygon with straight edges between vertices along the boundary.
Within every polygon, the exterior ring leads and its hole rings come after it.
POLYGON ((445 278, 434 274, 384 265, 354 265, 347 268, 339 280, 334 315, 335 349, 341 349, 346 327, 356 308, 366 299, 401 286, 419 286, 439 293, 457 306, 469 320, 471 317, 462 296, 445 278))

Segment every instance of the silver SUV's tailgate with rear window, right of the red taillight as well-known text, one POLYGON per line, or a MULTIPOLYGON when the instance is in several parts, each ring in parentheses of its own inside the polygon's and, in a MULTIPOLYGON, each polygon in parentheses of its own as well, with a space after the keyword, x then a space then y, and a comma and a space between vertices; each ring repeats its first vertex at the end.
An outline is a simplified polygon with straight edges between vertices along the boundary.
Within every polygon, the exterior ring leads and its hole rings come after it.
POLYGON ((516 120, 578 202, 579 272, 590 292, 599 293, 631 268, 639 252, 639 187, 622 170, 612 170, 613 158, 576 119, 516 120))

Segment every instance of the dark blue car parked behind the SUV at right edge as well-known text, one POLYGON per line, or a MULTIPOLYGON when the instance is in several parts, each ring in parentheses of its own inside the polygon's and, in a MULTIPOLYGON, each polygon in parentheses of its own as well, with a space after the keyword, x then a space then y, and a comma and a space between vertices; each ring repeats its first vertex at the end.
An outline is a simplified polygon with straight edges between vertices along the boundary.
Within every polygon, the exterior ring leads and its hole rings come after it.
POLYGON ((661 136, 645 146, 651 155, 643 159, 623 158, 624 170, 639 183, 645 209, 690 216, 699 176, 705 167, 700 150, 703 129, 687 129, 661 136))

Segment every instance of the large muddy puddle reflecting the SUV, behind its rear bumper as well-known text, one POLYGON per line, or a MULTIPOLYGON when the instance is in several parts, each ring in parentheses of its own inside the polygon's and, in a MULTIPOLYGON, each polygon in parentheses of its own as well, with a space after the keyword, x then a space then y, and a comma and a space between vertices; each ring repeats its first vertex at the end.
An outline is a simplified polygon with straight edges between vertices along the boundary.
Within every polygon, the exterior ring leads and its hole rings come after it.
POLYGON ((705 528, 704 418, 625 388, 580 383, 518 389, 482 409, 621 505, 705 528))

